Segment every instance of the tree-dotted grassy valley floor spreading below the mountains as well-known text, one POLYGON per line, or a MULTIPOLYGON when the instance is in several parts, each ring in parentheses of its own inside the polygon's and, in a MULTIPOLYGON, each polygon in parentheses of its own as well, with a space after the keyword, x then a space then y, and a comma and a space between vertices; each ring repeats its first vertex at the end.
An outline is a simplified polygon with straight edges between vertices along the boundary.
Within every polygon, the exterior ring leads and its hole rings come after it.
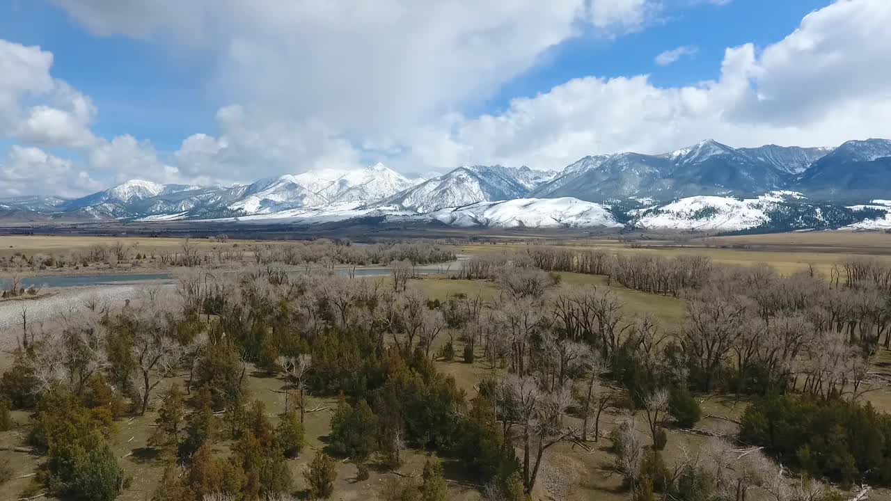
MULTIPOLYGON (((108 259, 123 242, 127 259, 90 267, 146 267, 138 253, 168 255, 164 269, 177 270, 172 283, 0 301, 0 393, 12 407, 9 424, 0 408, 0 498, 77 498, 66 486, 86 473, 59 466, 59 455, 75 453, 53 433, 83 438, 47 424, 66 415, 42 407, 46 399, 78 415, 78 430, 96 427, 98 442, 85 443, 107 446, 108 456, 90 461, 119 467, 101 477, 118 479, 109 492, 122 500, 211 491, 310 498, 304 473, 316 472, 310 464, 322 453, 333 458, 330 498, 342 500, 426 496, 440 478, 429 460, 441 465, 442 499, 519 501, 525 491, 535 500, 624 500, 648 489, 657 491, 650 499, 733 499, 745 489, 745 499, 830 501, 855 497, 862 484, 870 499, 891 499, 891 437, 865 457, 849 436, 852 466, 838 470, 758 441, 755 411, 747 413, 774 392, 818 410, 838 399, 891 412, 888 236, 349 248, 192 241, 192 266, 176 239, 0 237, 5 258, 101 246, 108 259), (238 248, 266 250, 222 259, 238 248), (417 273, 415 265, 456 255, 467 260, 417 273), (389 275, 333 273, 375 264, 389 275), (241 271, 214 275, 215 267, 241 271), (42 301, 65 316, 21 324, 21 305, 36 312, 42 301), (157 364, 145 362, 150 353, 157 364), (301 357, 305 372, 294 368, 301 357), (172 397, 172 386, 188 393, 172 397), (203 388, 212 404, 201 403, 203 388), (278 430, 294 413, 304 415, 303 439, 282 456, 278 430), (254 461, 264 466, 252 480, 254 461), (693 497, 691 479, 703 497, 693 497)), ((822 442, 808 447, 828 454, 822 442)))

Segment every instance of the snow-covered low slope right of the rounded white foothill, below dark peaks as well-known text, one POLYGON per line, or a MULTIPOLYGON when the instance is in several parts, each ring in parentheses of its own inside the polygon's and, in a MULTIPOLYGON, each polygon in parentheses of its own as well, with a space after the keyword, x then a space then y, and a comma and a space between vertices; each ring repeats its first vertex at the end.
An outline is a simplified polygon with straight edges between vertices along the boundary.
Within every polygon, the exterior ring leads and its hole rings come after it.
POLYGON ((738 231, 770 222, 774 204, 802 198, 796 192, 765 193, 754 199, 693 196, 634 211, 635 226, 650 230, 738 231))

